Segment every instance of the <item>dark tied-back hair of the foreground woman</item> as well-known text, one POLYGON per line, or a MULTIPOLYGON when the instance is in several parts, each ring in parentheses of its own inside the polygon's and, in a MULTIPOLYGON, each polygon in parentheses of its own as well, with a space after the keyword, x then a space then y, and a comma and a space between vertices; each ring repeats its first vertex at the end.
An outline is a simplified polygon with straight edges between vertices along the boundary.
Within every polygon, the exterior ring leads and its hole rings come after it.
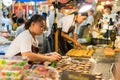
POLYGON ((25 23, 25 29, 29 29, 32 22, 42 22, 43 20, 45 21, 41 15, 35 14, 25 23))

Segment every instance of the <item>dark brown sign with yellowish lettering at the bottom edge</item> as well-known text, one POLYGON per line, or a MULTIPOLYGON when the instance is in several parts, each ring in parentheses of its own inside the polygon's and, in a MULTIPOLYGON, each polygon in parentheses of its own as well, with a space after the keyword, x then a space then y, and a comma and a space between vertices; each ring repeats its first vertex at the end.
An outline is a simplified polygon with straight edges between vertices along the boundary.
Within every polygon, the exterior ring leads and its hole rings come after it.
POLYGON ((79 72, 63 71, 61 80, 95 80, 95 76, 90 74, 81 74, 79 72))

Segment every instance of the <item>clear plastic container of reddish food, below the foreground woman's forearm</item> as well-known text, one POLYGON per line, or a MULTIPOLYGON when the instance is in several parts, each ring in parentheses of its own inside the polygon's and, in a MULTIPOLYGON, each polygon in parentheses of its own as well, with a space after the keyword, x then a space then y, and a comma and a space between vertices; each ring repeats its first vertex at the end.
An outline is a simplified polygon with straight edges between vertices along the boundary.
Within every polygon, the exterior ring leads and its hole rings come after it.
POLYGON ((39 78, 40 80, 58 80, 58 72, 55 68, 44 66, 44 65, 34 65, 32 67, 32 71, 30 76, 27 78, 36 80, 36 78, 39 78), (32 77, 31 77, 32 76, 32 77))

